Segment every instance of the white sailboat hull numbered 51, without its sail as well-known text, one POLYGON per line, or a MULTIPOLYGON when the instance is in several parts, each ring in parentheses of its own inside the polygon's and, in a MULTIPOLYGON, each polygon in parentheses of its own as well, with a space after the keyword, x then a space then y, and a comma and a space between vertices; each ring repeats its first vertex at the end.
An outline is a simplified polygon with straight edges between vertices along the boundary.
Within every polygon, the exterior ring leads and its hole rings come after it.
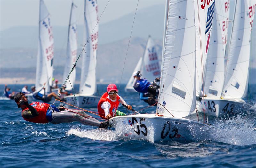
POLYGON ((65 96, 64 99, 68 104, 80 107, 80 108, 97 108, 98 102, 100 100, 99 96, 86 96, 82 94, 75 94, 70 96, 65 96), (76 100, 77 99, 77 100, 76 100))

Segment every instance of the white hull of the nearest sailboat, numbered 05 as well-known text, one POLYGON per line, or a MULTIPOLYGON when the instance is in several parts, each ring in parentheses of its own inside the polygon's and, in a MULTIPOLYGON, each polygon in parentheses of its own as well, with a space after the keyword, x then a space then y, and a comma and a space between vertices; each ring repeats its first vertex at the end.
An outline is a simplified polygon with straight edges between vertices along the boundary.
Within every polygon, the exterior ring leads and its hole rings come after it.
POLYGON ((193 120, 155 114, 117 116, 111 118, 109 124, 117 134, 153 143, 203 140, 209 128, 208 125, 193 120), (204 131, 202 128, 205 128, 204 131))

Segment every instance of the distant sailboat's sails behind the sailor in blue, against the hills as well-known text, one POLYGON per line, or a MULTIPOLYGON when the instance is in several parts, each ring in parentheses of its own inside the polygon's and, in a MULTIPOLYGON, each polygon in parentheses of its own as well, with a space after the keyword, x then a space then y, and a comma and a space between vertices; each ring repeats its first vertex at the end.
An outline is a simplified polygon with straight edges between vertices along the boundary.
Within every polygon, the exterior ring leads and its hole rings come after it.
MULTIPOLYGON (((160 66, 156 52, 156 46, 150 35, 148 36, 143 57, 140 57, 134 69, 134 72, 135 71, 140 71, 143 75, 142 77, 146 78, 150 82, 160 76, 160 66)), ((132 87, 133 81, 134 77, 132 75, 125 87, 125 92, 136 92, 132 87)))

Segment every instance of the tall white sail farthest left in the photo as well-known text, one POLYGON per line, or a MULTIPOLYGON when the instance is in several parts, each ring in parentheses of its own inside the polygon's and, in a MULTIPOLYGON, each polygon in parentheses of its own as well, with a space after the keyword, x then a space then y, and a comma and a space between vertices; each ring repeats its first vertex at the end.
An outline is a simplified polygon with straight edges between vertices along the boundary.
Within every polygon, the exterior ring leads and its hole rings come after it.
POLYGON ((50 86, 52 85, 53 75, 53 32, 50 14, 43 0, 40 0, 39 11, 39 42, 36 64, 36 89, 46 83, 45 92, 49 93, 50 86))

